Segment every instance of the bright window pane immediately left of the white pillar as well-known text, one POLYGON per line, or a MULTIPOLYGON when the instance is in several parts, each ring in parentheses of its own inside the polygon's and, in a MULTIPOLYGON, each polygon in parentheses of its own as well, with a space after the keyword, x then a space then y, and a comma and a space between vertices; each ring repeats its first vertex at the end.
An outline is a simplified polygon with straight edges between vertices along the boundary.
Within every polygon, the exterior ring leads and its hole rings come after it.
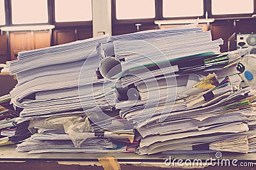
POLYGON ((92 20, 92 0, 55 0, 55 21, 92 20))

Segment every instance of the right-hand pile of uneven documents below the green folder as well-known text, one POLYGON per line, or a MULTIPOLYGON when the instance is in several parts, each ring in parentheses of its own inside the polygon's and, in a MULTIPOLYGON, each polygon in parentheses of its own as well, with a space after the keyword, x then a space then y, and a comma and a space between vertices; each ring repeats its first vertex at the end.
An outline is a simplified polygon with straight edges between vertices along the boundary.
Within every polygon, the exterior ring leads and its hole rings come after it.
POLYGON ((198 58, 171 61, 179 67, 172 76, 142 76, 141 83, 134 79, 140 98, 116 106, 120 117, 137 124, 138 153, 255 152, 256 96, 236 69, 244 53, 205 55, 203 69, 196 69, 200 62, 193 60, 198 58))

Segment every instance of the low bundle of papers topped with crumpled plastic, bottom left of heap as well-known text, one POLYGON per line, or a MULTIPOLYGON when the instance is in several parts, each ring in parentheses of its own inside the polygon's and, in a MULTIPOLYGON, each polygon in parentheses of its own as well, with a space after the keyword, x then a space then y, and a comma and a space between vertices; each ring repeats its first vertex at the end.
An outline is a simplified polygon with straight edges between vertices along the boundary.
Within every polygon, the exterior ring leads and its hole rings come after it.
POLYGON ((93 132, 88 119, 79 116, 31 120, 28 129, 34 134, 17 145, 19 152, 134 152, 138 147, 138 143, 131 144, 133 131, 93 132))

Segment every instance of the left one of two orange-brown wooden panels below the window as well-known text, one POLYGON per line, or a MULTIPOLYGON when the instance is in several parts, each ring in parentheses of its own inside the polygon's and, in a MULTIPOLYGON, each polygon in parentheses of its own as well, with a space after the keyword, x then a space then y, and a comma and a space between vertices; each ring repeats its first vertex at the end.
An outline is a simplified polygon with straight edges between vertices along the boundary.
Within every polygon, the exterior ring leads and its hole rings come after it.
POLYGON ((11 32, 10 33, 11 59, 17 59, 19 52, 31 50, 31 32, 11 32))

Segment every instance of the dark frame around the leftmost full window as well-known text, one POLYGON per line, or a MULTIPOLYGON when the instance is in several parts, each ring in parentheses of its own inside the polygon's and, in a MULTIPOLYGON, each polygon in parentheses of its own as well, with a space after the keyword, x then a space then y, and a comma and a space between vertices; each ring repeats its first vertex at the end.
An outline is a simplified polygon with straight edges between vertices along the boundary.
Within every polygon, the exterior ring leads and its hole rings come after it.
MULTIPOLYGON (((51 24, 51 0, 47 0, 47 18, 48 18, 48 22, 42 22, 42 23, 30 23, 30 24, 13 24, 12 22, 12 0, 6 0, 8 1, 8 13, 7 15, 8 17, 8 25, 10 26, 22 26, 22 25, 49 25, 51 24)), ((6 24, 7 25, 7 24, 6 24)))

